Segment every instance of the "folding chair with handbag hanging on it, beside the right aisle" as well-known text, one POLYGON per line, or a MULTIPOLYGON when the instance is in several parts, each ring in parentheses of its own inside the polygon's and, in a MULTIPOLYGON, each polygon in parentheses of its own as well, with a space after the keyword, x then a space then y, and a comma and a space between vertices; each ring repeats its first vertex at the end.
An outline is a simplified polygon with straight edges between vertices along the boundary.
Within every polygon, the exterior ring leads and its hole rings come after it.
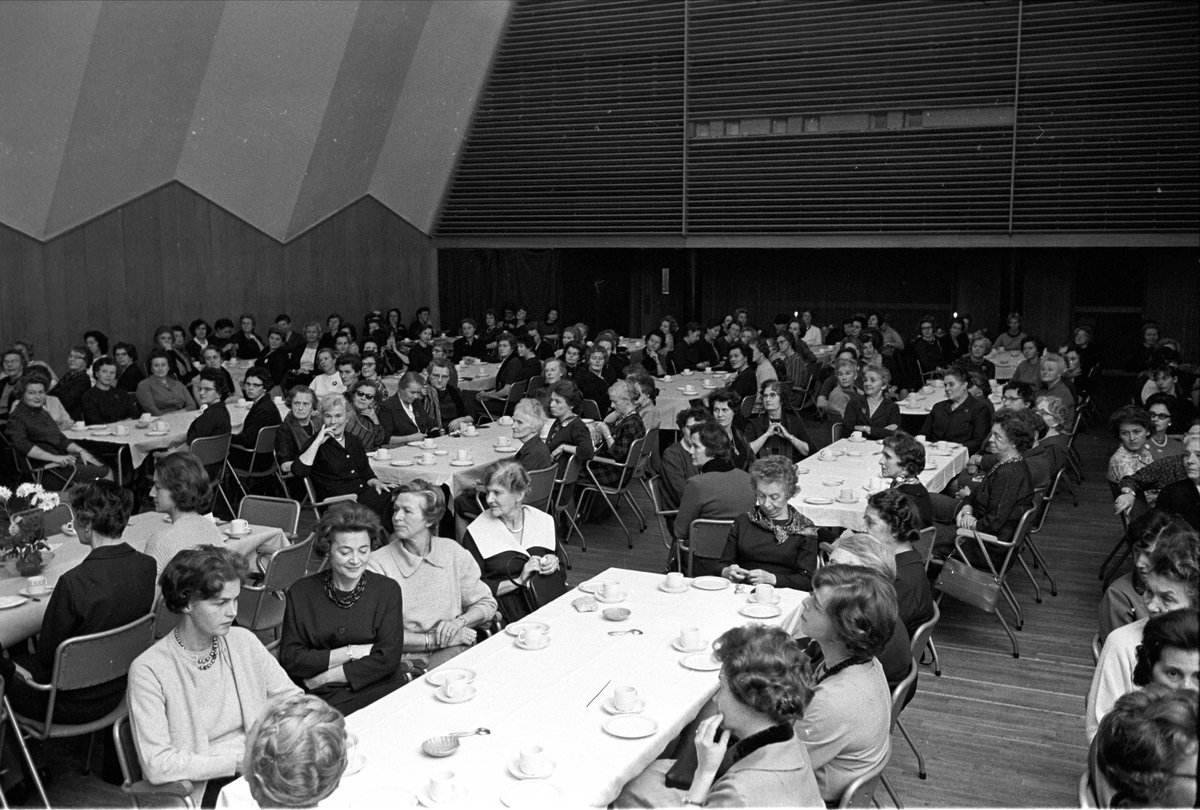
POLYGON ((1000 611, 1000 598, 1003 596, 1013 610, 1016 617, 1016 629, 1024 628, 1025 617, 1021 613, 1021 606, 1018 604, 1013 589, 1008 586, 1007 578, 1013 568, 1013 559, 1020 559, 1021 546, 1025 544, 1025 538, 1033 522, 1033 506, 1025 510, 1016 526, 1016 532, 1013 533, 1013 539, 1007 542, 991 534, 960 528, 954 538, 954 551, 959 558, 953 556, 948 558, 942 566, 942 572, 937 576, 936 587, 941 589, 941 594, 937 596, 938 604, 941 604, 942 596, 949 595, 968 605, 974 605, 982 611, 994 613, 1001 626, 1004 628, 1004 632, 1008 634, 1009 641, 1013 642, 1013 658, 1020 658, 1021 652, 1013 629, 1008 626, 1008 622, 1004 620, 1004 616, 1000 611), (962 548, 962 544, 971 538, 976 540, 983 559, 988 563, 986 570, 974 568, 962 548), (998 568, 988 553, 988 546, 1006 550, 998 568))

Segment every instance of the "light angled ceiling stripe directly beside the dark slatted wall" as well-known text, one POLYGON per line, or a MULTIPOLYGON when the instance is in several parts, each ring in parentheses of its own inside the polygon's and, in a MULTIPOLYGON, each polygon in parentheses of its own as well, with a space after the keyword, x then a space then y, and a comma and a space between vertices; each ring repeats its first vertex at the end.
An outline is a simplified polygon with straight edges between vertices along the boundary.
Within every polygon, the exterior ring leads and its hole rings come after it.
POLYGON ((511 4, 436 2, 391 120, 371 193, 431 233, 511 4))

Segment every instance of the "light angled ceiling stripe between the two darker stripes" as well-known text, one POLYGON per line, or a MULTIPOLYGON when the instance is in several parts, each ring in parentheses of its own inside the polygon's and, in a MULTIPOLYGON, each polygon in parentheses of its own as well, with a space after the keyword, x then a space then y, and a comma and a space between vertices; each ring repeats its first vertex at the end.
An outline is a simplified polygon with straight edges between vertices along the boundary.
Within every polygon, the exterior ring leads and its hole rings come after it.
POLYGON ((358 7, 227 2, 176 179, 283 239, 358 7))

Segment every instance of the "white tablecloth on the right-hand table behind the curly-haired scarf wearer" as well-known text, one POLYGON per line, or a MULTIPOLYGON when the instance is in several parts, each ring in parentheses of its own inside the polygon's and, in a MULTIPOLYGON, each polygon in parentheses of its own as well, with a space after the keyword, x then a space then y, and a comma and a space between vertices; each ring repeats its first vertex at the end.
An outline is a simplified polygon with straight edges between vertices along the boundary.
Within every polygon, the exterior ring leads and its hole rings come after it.
MULTIPOLYGON (((863 512, 866 510, 865 488, 872 478, 880 478, 880 456, 883 451, 881 442, 851 442, 839 439, 826 448, 827 451, 858 452, 860 456, 840 455, 833 461, 822 461, 820 454, 814 454, 799 462, 800 491, 790 502, 797 510, 818 526, 845 526, 856 532, 863 532, 863 512), (806 473, 805 473, 806 470, 806 473), (826 481, 841 481, 836 486, 827 486, 826 481), (854 500, 839 503, 836 498, 842 490, 850 490, 854 500), (832 504, 810 504, 805 498, 829 498, 832 504)), ((920 482, 930 492, 941 492, 955 475, 967 466, 967 450, 962 445, 938 455, 935 446, 925 445, 926 469, 918 475, 920 482), (932 469, 929 469, 932 466, 932 469)))

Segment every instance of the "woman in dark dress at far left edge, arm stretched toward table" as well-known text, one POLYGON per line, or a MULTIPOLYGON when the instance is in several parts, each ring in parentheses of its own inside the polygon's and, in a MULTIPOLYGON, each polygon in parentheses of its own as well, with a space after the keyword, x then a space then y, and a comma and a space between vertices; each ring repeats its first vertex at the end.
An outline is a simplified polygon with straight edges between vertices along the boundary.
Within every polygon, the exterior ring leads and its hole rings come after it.
POLYGON ((37 370, 28 372, 12 386, 6 430, 13 452, 26 458, 30 466, 46 469, 42 486, 47 490, 61 488, 67 481, 83 484, 112 479, 112 470, 68 439, 47 413, 47 388, 46 378, 37 370))

